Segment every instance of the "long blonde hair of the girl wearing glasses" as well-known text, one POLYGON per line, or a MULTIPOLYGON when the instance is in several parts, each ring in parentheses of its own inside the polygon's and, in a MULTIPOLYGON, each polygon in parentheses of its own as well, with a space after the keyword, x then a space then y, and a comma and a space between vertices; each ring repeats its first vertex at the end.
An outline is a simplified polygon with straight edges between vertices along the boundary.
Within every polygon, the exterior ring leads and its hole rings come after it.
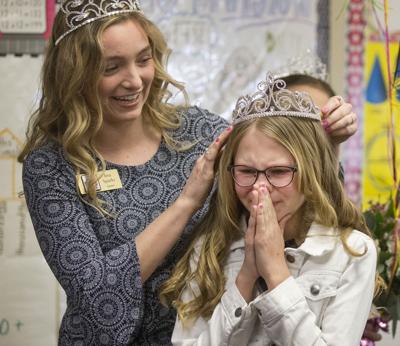
POLYGON ((339 229, 345 249, 354 256, 362 255, 349 248, 346 239, 353 229, 366 234, 369 231, 362 214, 345 195, 337 174, 337 158, 319 122, 293 117, 244 121, 235 125, 223 150, 218 167, 218 190, 209 212, 160 291, 161 301, 175 307, 183 322, 199 316, 209 318, 224 293, 224 265, 232 242, 243 237, 239 222, 245 212, 227 167, 233 164, 243 136, 253 128, 284 146, 294 157, 298 167, 297 188, 305 197, 299 209, 302 222, 316 221, 339 229), (199 243, 201 248, 196 248, 199 243), (196 267, 191 266, 196 262, 196 267), (191 301, 182 297, 185 288, 193 292, 191 301))

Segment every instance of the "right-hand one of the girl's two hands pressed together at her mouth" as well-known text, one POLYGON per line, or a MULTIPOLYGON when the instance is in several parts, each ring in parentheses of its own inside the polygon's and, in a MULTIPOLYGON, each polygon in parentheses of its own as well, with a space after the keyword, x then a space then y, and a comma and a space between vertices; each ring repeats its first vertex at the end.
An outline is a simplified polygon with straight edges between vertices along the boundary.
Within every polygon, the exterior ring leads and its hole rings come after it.
POLYGON ((254 248, 258 272, 272 290, 290 276, 285 260, 283 232, 290 215, 278 222, 268 190, 259 189, 254 248))

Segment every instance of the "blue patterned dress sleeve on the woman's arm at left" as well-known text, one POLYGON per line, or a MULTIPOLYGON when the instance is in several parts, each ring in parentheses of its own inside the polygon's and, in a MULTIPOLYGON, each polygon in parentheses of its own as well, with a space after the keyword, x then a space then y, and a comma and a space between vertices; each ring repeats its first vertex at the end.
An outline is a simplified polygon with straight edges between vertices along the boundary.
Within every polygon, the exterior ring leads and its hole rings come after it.
POLYGON ((71 344, 76 333, 86 340, 103 335, 108 345, 127 344, 143 316, 135 242, 103 252, 61 154, 33 151, 24 162, 23 184, 39 245, 67 295, 72 322, 63 324, 63 334, 71 344))

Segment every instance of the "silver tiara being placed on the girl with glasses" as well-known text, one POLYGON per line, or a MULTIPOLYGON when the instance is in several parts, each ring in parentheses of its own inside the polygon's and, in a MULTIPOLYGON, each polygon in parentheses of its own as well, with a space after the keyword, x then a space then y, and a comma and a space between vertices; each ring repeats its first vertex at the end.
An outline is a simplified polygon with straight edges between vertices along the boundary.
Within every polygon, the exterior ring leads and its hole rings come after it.
POLYGON ((320 110, 314 105, 310 95, 286 89, 283 80, 274 79, 272 73, 268 72, 265 80, 258 83, 254 94, 238 99, 232 113, 232 124, 274 116, 321 120, 320 110))

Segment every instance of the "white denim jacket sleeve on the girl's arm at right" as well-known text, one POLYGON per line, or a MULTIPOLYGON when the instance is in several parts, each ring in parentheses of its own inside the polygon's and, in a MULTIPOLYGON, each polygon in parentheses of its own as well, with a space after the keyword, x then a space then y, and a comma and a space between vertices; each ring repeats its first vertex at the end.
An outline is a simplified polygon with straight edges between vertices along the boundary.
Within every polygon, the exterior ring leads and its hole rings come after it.
POLYGON ((373 241, 366 236, 357 236, 356 243, 349 245, 361 253, 366 245, 367 252, 361 257, 350 257, 336 295, 327 298, 320 322, 293 277, 253 301, 263 328, 275 343, 299 346, 360 343, 373 298, 377 255, 373 241))

